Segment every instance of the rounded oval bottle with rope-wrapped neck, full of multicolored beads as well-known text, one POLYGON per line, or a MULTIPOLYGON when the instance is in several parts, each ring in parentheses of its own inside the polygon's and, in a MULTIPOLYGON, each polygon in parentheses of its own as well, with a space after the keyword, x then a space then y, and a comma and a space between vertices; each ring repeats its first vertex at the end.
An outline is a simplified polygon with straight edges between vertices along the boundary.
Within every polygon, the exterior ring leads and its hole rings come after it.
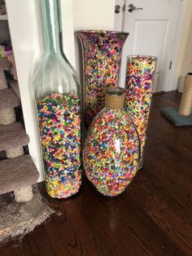
POLYGON ((137 130, 123 105, 124 89, 108 88, 105 108, 94 118, 85 139, 85 174, 104 196, 124 192, 140 160, 137 130))

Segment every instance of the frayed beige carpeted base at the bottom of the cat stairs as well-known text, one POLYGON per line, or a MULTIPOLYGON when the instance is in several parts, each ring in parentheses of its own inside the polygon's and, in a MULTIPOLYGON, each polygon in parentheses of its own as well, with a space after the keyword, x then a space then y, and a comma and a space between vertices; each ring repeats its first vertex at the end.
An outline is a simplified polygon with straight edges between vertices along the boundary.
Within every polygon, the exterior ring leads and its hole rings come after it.
POLYGON ((26 203, 17 203, 11 194, 0 196, 0 242, 16 236, 22 240, 24 235, 54 213, 36 186, 33 188, 33 199, 26 203))

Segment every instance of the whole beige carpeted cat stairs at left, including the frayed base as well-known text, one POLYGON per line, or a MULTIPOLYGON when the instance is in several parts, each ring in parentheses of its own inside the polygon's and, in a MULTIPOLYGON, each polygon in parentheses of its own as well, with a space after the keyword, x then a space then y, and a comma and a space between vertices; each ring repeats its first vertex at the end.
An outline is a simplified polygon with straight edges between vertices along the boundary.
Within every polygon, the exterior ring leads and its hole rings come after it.
POLYGON ((13 79, 7 83, 4 70, 10 68, 7 59, 0 59, 0 243, 15 236, 22 241, 25 234, 54 213, 37 186, 32 186, 39 174, 32 157, 24 154, 23 146, 29 143, 29 138, 15 118, 15 113, 22 112, 20 90, 13 79))

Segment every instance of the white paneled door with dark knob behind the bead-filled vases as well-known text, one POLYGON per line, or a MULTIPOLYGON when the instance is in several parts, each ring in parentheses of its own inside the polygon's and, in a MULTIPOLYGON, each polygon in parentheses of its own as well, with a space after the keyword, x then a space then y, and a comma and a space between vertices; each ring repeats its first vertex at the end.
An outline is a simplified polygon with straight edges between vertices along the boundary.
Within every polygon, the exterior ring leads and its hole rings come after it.
POLYGON ((182 0, 116 0, 121 10, 115 14, 114 29, 129 32, 122 55, 120 86, 124 86, 126 56, 144 54, 158 57, 154 91, 169 90, 181 3, 182 0))

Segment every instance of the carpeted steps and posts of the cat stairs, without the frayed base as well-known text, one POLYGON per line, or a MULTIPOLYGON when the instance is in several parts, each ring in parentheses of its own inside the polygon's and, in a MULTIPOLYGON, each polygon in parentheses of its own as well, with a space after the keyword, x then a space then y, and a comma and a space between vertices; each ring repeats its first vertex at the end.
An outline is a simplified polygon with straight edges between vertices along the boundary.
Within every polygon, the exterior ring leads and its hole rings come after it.
MULTIPOLYGON (((20 99, 8 88, 3 77, 4 70, 10 70, 11 63, 0 59, 0 152, 5 151, 8 159, 0 161, 0 195, 14 191, 15 200, 30 201, 33 197, 32 184, 37 183, 38 172, 29 155, 24 154, 23 146, 29 143, 28 135, 20 122, 15 122, 14 108, 20 106, 20 99)), ((18 91, 17 82, 9 85, 18 91)))

